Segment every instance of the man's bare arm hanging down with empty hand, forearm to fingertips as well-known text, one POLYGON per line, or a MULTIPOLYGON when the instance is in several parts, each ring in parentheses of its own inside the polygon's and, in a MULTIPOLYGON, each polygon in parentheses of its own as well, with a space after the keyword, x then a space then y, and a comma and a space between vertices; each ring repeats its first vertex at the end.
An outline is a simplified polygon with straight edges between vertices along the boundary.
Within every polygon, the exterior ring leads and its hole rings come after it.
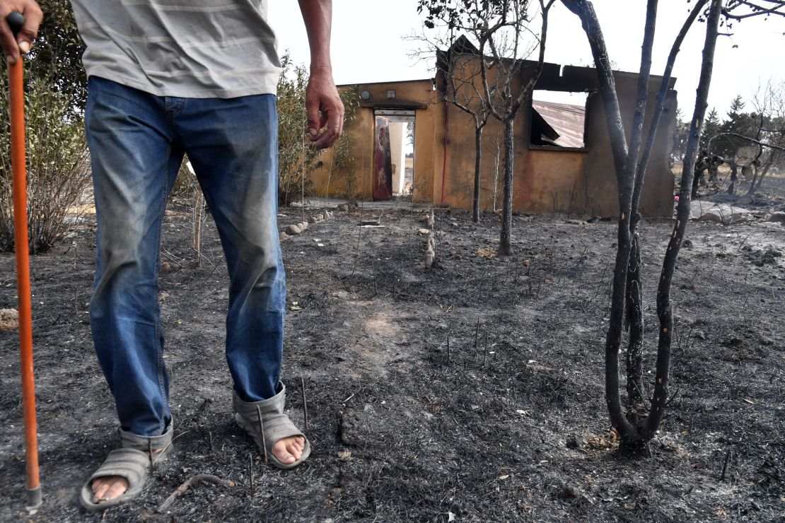
POLYGON ((305 89, 308 133, 318 149, 330 147, 343 130, 344 107, 338 97, 330 61, 332 0, 298 0, 311 46, 311 75, 305 89), (321 116, 319 116, 321 111, 321 116))

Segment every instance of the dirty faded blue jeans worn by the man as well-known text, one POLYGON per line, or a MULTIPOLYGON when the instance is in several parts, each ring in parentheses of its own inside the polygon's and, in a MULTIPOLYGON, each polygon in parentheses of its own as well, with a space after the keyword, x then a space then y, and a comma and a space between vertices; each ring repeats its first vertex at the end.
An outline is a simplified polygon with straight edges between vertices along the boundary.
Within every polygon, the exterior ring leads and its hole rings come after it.
POLYGON ((86 129, 98 221, 90 326, 122 429, 155 436, 170 423, 159 244, 185 153, 226 256, 226 359, 235 390, 244 401, 272 398, 286 300, 276 97, 162 97, 92 77, 86 129))

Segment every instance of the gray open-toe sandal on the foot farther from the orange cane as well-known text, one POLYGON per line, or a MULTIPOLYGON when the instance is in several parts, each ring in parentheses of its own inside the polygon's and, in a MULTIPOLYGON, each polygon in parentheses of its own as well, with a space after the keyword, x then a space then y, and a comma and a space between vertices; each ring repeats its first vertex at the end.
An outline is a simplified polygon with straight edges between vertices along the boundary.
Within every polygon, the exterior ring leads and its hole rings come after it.
POLYGON ((283 386, 283 383, 280 384, 278 394, 263 401, 243 401, 236 391, 232 396, 232 407, 236 412, 235 421, 243 430, 254 437, 254 441, 260 449, 267 449, 270 463, 279 469, 297 467, 311 455, 311 444, 308 438, 305 438, 305 434, 294 426, 289 416, 283 413, 285 398, 286 387, 283 386), (305 440, 302 455, 294 463, 281 463, 272 453, 272 445, 275 445, 276 441, 293 436, 302 436, 305 440))

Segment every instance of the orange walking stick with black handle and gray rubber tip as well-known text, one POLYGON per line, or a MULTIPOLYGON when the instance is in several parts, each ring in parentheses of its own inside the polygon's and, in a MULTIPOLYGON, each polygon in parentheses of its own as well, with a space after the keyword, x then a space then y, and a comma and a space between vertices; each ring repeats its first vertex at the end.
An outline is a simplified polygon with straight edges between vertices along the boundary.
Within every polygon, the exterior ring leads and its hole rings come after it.
MULTIPOLYGON (((24 16, 11 13, 8 24, 14 35, 24 16)), ((16 289, 19 295, 19 346, 22 360, 22 409, 24 411, 24 458, 27 464, 27 506, 40 507, 38 478, 38 430, 35 423, 33 378, 33 326, 30 296, 30 254, 27 245, 27 156, 24 151, 24 84, 22 60, 8 66, 11 107, 11 170, 13 173, 13 238, 16 251, 16 289)))

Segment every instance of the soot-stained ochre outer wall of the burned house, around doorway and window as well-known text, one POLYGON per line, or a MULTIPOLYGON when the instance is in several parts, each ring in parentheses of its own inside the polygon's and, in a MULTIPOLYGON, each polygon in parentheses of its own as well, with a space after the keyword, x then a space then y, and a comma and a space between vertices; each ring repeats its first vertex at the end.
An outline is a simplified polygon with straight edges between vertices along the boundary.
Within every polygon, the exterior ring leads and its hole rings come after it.
MULTIPOLYGON (((526 68, 524 67, 524 74, 526 68)), ((632 123, 637 75, 615 74, 619 107, 626 129, 632 123)), ((659 91, 659 77, 649 85, 649 117, 659 91)), ((325 194, 330 177, 332 196, 343 196, 346 171, 356 173, 357 195, 371 199, 373 187, 374 107, 414 108, 416 126, 414 140, 414 200, 433 202, 469 209, 472 205, 475 164, 475 125, 473 118, 452 104, 440 101, 429 80, 388 82, 345 87, 367 90, 371 100, 363 103, 354 121, 347 125, 355 156, 351 169, 329 174, 330 152, 325 154, 325 168, 314 173, 316 192, 325 194), (396 100, 387 100, 390 89, 396 100), (445 133, 446 131, 446 133, 445 133), (445 158, 444 151, 447 151, 445 158)), ((615 169, 605 123, 601 96, 596 92, 596 73, 588 67, 560 67, 546 64, 536 89, 587 90, 586 132, 582 149, 530 147, 531 104, 524 104, 514 129, 515 155, 513 209, 518 212, 564 212, 581 215, 615 216, 619 212, 615 169), (593 92, 591 92, 593 91, 593 92)), ((648 165, 641 212, 646 216, 671 216, 673 211, 674 176, 668 168, 670 136, 675 125, 675 92, 670 91, 666 111, 660 123, 655 147, 648 165)), ((480 209, 494 210, 502 201, 504 176, 504 129, 491 118, 483 132, 482 178, 480 209)))

